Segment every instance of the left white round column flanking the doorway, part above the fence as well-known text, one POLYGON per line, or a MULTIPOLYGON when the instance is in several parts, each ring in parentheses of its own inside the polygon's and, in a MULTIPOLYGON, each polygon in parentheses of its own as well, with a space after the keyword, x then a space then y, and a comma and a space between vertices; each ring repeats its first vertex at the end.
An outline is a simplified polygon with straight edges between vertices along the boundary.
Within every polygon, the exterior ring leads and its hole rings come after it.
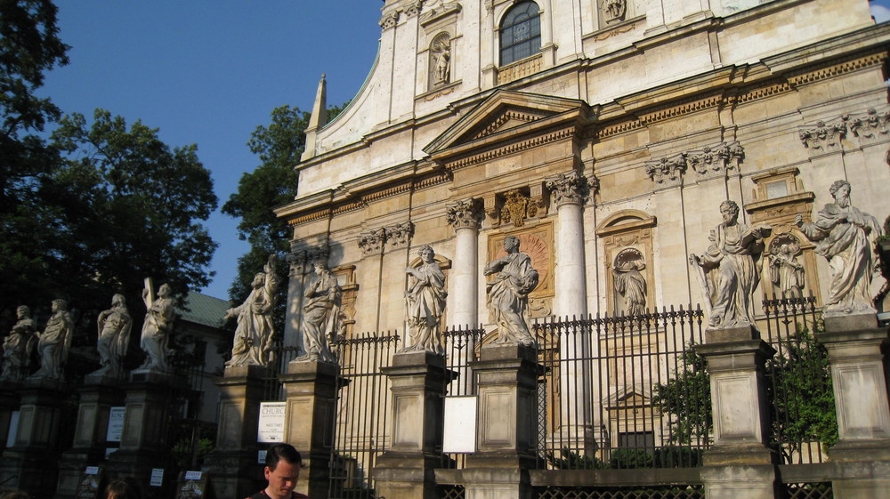
POLYGON ((454 303, 450 327, 475 327, 479 324, 479 222, 481 210, 473 198, 445 205, 446 215, 454 229, 455 242, 452 273, 454 284, 449 289, 454 303))

